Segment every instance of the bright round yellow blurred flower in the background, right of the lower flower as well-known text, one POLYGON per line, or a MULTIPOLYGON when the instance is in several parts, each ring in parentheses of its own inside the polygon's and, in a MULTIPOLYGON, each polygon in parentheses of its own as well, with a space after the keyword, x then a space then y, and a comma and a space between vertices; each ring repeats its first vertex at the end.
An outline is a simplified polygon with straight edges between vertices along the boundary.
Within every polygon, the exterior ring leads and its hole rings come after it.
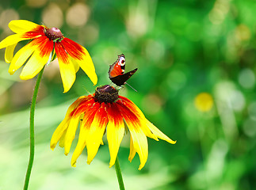
POLYGON ((209 93, 199 93, 195 98, 194 104, 201 112, 208 112, 213 106, 213 99, 209 93))

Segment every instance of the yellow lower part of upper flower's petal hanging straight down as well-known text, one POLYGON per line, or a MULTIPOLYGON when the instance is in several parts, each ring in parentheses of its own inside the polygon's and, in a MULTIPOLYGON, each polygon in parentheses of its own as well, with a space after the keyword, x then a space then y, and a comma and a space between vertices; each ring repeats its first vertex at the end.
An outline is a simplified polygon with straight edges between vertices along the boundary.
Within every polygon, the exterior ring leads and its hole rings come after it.
POLYGON ((63 63, 62 59, 59 60, 59 71, 63 81, 64 93, 67 93, 75 82, 75 68, 71 59, 67 59, 67 63, 63 63))

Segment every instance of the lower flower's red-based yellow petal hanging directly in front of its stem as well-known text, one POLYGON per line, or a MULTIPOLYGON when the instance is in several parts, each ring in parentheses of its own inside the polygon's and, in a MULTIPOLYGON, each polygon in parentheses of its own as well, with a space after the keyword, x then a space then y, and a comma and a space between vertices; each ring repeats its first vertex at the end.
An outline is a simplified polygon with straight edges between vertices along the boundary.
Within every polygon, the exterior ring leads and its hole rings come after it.
POLYGON ((117 105, 111 104, 108 110, 109 124, 107 126, 107 139, 109 142, 110 162, 109 168, 115 164, 120 142, 124 137, 124 120, 117 105))

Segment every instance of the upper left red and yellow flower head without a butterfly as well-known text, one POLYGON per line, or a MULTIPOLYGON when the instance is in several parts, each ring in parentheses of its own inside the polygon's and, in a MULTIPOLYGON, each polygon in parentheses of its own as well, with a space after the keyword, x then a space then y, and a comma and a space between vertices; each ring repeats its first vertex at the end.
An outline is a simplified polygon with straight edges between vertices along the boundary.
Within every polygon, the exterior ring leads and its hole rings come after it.
POLYGON ((51 61, 52 52, 55 50, 64 93, 74 84, 79 67, 86 72, 94 85, 97 83, 94 63, 86 48, 64 37, 59 28, 47 28, 25 20, 10 21, 9 28, 16 34, 2 40, 0 49, 6 47, 5 59, 6 63, 10 63, 10 74, 28 60, 21 71, 20 78, 28 80, 35 77, 45 64, 51 61), (13 57, 14 48, 21 40, 32 41, 17 51, 13 57))

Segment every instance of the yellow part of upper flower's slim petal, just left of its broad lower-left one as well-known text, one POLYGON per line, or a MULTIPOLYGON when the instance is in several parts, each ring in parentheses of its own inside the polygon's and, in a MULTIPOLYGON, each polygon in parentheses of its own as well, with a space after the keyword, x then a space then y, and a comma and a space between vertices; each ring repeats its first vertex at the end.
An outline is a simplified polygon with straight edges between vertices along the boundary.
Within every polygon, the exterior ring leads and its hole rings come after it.
POLYGON ((18 70, 27 59, 29 59, 30 55, 36 50, 36 46, 33 46, 31 43, 22 47, 17 53, 14 55, 12 62, 10 63, 9 73, 13 74, 16 70, 18 70))

